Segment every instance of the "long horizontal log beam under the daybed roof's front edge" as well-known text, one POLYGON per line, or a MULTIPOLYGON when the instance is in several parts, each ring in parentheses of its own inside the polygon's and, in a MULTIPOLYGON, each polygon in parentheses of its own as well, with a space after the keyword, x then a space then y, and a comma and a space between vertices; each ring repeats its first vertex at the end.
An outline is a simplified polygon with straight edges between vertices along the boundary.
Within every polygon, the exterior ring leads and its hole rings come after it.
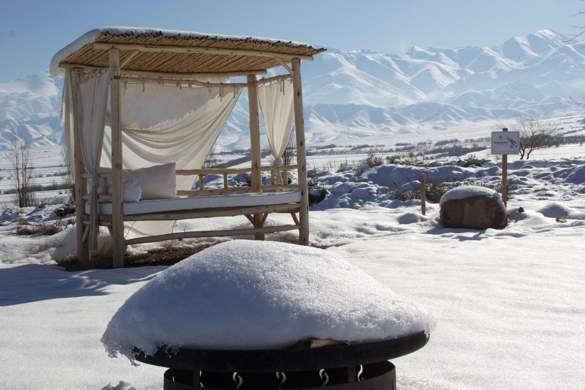
POLYGON ((204 47, 204 46, 172 46, 172 45, 139 45, 137 43, 108 43, 108 42, 94 42, 91 44, 94 50, 110 50, 118 49, 123 51, 139 50, 140 52, 151 53, 202 53, 202 54, 217 54, 221 56, 256 56, 256 57, 279 57, 283 60, 292 60, 298 58, 301 60, 312 61, 313 56, 307 54, 288 54, 268 52, 264 50, 250 50, 250 49, 226 49, 225 47, 204 47))

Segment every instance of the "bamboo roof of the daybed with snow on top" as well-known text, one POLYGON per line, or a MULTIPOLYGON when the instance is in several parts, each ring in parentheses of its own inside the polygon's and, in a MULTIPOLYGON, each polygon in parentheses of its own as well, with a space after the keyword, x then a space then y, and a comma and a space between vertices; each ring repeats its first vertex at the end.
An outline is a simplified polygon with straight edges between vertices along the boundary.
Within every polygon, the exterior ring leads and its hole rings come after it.
POLYGON ((63 64, 108 66, 112 46, 120 48, 121 61, 134 55, 132 50, 140 50, 124 69, 173 73, 266 70, 280 66, 276 56, 290 62, 292 57, 310 59, 326 50, 272 38, 109 26, 88 31, 59 50, 51 60, 51 77, 63 77, 63 64))

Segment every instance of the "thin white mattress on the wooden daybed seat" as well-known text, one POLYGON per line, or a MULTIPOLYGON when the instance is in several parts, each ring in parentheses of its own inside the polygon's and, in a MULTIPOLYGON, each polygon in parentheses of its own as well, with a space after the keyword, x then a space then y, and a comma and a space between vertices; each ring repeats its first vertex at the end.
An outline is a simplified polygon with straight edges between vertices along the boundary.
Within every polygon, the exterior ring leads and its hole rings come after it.
MULTIPOLYGON (((246 207, 269 204, 294 203, 301 200, 301 191, 263 192, 226 195, 200 195, 190 198, 141 200, 123 203, 124 215, 158 213, 159 211, 193 210, 209 207, 246 207)), ((85 213, 90 213, 90 205, 85 204, 85 213)), ((111 203, 99 203, 99 214, 112 214, 111 203)))

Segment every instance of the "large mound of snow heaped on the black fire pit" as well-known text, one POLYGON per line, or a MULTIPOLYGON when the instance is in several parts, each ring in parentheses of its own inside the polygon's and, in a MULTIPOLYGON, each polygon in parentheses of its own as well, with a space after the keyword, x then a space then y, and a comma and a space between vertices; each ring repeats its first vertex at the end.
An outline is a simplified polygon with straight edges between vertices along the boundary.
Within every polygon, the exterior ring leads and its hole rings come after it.
POLYGON ((433 327, 421 306, 329 251, 236 240, 161 272, 118 309, 102 336, 111 355, 160 345, 286 348, 307 338, 364 342, 433 327))

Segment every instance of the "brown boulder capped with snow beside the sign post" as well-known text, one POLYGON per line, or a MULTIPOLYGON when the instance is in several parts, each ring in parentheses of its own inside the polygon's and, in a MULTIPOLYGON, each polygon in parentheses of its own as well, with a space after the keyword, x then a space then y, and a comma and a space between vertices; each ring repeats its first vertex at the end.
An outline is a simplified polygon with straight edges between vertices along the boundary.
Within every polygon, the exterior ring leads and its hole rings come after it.
POLYGON ((441 223, 448 228, 503 229, 508 223, 500 194, 486 187, 456 187, 441 197, 439 207, 441 223))

